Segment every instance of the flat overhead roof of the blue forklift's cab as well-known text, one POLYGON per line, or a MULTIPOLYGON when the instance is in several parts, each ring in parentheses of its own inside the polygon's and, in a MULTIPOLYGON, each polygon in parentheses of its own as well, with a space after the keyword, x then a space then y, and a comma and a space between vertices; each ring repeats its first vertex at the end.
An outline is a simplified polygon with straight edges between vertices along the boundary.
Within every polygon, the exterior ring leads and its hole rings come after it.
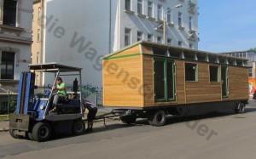
POLYGON ((29 69, 32 71, 44 71, 44 72, 64 72, 64 71, 81 71, 82 68, 73 67, 69 65, 60 65, 56 63, 45 63, 45 64, 32 64, 28 65, 29 69))

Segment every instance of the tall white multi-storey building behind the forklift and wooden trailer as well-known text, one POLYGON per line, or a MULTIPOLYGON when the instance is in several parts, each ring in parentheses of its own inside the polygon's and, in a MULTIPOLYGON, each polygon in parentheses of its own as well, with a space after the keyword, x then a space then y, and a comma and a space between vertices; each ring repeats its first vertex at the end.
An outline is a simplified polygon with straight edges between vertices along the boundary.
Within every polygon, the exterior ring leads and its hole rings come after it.
POLYGON ((140 40, 164 43, 164 18, 166 44, 198 48, 197 0, 45 0, 44 14, 42 62, 82 67, 84 83, 95 86, 102 56, 140 40))

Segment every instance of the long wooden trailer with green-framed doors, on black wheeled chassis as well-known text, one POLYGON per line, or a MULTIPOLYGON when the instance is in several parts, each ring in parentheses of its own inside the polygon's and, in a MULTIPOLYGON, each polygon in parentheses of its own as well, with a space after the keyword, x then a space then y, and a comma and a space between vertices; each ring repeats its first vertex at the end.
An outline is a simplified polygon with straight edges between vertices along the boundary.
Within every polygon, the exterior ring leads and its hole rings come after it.
POLYGON ((247 60, 189 48, 138 42, 103 57, 103 105, 127 111, 123 122, 232 109, 249 98, 247 60))

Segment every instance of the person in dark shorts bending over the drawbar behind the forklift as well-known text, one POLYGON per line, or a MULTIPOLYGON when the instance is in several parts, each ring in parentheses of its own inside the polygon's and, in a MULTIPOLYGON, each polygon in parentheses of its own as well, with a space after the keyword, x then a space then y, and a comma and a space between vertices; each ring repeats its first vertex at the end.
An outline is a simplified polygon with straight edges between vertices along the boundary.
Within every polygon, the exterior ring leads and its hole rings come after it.
POLYGON ((98 111, 96 105, 91 103, 87 99, 83 99, 83 105, 84 105, 84 111, 87 109, 89 112, 87 114, 87 128, 85 132, 92 132, 92 127, 93 127, 93 120, 95 119, 96 113, 98 111))

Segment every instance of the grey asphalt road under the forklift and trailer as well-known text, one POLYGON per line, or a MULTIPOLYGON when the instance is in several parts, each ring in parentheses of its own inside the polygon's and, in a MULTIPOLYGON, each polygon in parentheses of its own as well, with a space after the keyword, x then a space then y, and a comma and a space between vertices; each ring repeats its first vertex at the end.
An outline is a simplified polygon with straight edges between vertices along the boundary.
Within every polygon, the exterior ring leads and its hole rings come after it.
POLYGON ((203 116, 171 117, 166 126, 152 127, 146 120, 125 125, 97 122, 94 133, 62 135, 48 142, 13 139, 0 133, 0 157, 41 158, 188 158, 252 159, 256 156, 256 101, 246 113, 233 111, 203 116))

